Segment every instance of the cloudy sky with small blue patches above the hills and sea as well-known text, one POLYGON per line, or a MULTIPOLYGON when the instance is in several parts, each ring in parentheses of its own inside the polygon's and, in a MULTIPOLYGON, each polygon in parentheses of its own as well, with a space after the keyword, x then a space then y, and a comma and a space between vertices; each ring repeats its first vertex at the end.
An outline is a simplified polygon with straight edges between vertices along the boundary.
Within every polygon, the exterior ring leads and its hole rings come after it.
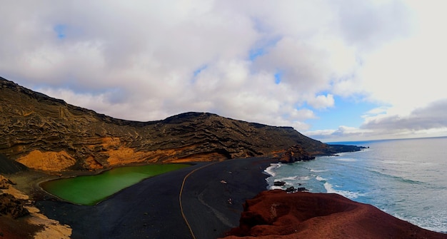
POLYGON ((0 76, 98 113, 447 136, 447 1, 1 2, 0 76))

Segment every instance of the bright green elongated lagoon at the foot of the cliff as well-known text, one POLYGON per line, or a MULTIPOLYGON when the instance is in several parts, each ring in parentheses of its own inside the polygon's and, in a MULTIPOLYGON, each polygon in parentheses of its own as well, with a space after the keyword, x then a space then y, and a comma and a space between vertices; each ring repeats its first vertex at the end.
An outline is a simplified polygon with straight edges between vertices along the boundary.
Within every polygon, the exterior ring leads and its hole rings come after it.
POLYGON ((145 178, 188 166, 187 164, 162 164, 113 168, 94 176, 51 180, 42 183, 41 187, 71 203, 95 205, 119 190, 139 183, 145 178))

